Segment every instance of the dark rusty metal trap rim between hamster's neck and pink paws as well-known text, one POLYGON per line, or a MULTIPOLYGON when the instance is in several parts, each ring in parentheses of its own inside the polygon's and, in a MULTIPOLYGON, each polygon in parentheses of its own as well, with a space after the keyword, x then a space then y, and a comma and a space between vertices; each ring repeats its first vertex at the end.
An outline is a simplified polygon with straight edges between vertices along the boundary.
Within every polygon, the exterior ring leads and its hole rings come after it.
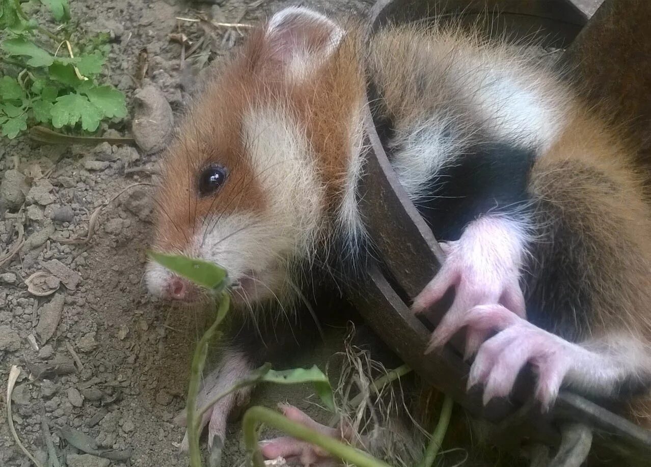
MULTIPOLYGON (((409 0, 379 0, 372 8, 372 28, 391 21, 391 10, 409 0)), ((413 3, 413 1, 411 1, 413 3)), ((368 105, 365 143, 368 149, 365 174, 359 185, 359 202, 372 241, 383 263, 370 263, 365 287, 351 292, 368 323, 401 358, 433 386, 452 396, 471 414, 486 418, 518 438, 531 438, 557 444, 555 421, 579 420, 600 432, 611 442, 628 446, 637 453, 651 455, 651 431, 638 427, 613 412, 570 392, 561 392, 551 414, 543 416, 528 406, 514 407, 495 401, 483 407, 478 394, 465 391, 468 365, 458 349, 423 358, 429 331, 411 312, 387 280, 387 273, 402 291, 414 297, 434 276, 443 259, 434 235, 419 215, 398 182, 380 143, 368 105), (395 241, 400 239, 400 241, 395 241), (400 245, 398 245, 400 244, 400 245), (381 269, 383 267, 383 269, 381 269)), ((442 315, 439 314, 439 318, 442 315)), ((436 323, 434 323, 436 324, 436 323)), ((525 403, 523 394, 532 394, 531 379, 520 386, 516 401, 525 403), (528 384, 527 384, 528 383, 528 384), (518 397, 519 396, 519 397, 518 397)))

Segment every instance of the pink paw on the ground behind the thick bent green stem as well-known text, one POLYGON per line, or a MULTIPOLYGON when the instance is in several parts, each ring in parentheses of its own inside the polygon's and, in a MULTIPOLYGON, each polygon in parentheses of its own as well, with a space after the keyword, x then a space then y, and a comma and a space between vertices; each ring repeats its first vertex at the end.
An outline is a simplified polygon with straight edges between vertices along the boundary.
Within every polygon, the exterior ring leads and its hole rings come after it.
MULTIPOLYGON (((290 420, 297 421, 306 427, 327 434, 327 436, 331 436, 332 438, 343 439, 346 437, 346 433, 342 433, 341 430, 326 427, 325 425, 312 420, 309 415, 292 405, 281 404, 279 405, 279 408, 283 412, 284 416, 290 420)), ((297 440, 290 436, 282 436, 280 438, 262 441, 260 442, 260 449, 262 455, 266 459, 276 459, 277 457, 283 457, 286 460, 296 459, 304 467, 339 465, 338 462, 329 457, 328 453, 323 449, 320 449, 320 447, 297 440)))

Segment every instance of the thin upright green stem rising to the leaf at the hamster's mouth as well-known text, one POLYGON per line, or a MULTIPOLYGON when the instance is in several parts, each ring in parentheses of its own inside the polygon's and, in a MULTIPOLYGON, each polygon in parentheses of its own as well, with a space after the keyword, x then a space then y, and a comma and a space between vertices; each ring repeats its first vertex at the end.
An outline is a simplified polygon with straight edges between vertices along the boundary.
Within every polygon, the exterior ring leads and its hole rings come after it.
POLYGON ((219 297, 219 308, 217 317, 210 328, 201 336, 195 354, 192 357, 192 366, 190 371, 190 382, 187 388, 187 442, 189 446, 189 456, 191 467, 201 467, 201 449, 199 449, 199 430, 194 429, 197 425, 197 394, 199 394, 199 382, 201 373, 206 363, 208 354, 208 343, 214 338, 219 324, 229 311, 230 297, 227 293, 222 292, 219 297))

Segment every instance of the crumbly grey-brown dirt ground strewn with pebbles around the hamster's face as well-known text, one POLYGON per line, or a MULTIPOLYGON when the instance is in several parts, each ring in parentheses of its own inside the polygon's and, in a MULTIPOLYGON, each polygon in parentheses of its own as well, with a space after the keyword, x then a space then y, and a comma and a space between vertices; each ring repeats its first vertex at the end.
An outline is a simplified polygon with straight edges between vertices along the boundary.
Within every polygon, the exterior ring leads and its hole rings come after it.
MULTIPOLYGON (((107 75, 126 93, 130 107, 138 88, 134 77, 139 53, 146 47, 144 83, 158 87, 178 113, 185 98, 181 48, 170 34, 184 33, 195 41, 202 33, 197 23, 175 18, 196 18, 201 11, 215 21, 251 23, 283 3, 70 0, 70 7, 87 30, 111 34, 107 75)), ((303 2, 339 12, 365 10, 369 3, 303 2)), ((226 27, 213 35, 208 50, 213 56, 226 53, 242 37, 226 27)), ((207 49, 201 50, 205 57, 207 49)), ((129 129, 127 118, 109 122, 104 133, 122 136, 129 129)), ((178 455, 184 431, 173 418, 184 407, 190 353, 202 321, 193 310, 152 299, 143 285, 152 187, 132 185, 153 183, 157 163, 157 155, 130 146, 50 146, 27 137, 2 140, 0 251, 16 245, 21 226, 25 243, 0 269, 1 466, 30 464, 4 416, 12 365, 21 367, 12 396, 14 425, 41 462, 47 459, 49 434, 52 446, 68 455, 71 467, 188 464, 178 455), (100 211, 88 243, 65 243, 85 238, 92 213, 122 191, 100 211), (27 290, 25 280, 38 272, 43 274, 33 284, 41 291, 56 289, 51 295, 27 290), (113 450, 113 460, 81 455, 73 447, 79 444, 91 451, 113 450)), ((312 357, 307 360, 314 362, 312 357)), ((299 403, 309 392, 263 388, 257 397, 273 407, 287 399, 299 403)), ((230 431, 223 466, 242 461, 237 429, 230 431)))

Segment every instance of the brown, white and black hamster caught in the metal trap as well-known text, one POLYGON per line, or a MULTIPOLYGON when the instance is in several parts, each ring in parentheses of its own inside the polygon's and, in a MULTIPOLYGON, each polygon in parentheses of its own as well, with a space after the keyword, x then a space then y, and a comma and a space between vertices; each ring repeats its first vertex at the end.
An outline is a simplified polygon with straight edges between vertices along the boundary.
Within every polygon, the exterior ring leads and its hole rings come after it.
MULTIPOLYGON (((222 265, 235 301, 266 315, 299 301, 312 267, 355 269, 367 245, 357 207, 367 79, 400 183, 447 254, 413 309, 456 290, 430 350, 466 328, 469 380, 485 401, 508 396, 529 363, 544 406, 563 386, 642 394, 631 411, 644 407, 651 215, 635 148, 551 70, 478 35, 408 26, 365 40, 305 8, 273 15, 167 150, 154 248, 222 265)), ((146 280, 163 297, 193 293, 153 263, 146 280)), ((199 405, 264 359, 240 333, 199 405)), ((206 412, 209 443, 245 395, 206 412)))

